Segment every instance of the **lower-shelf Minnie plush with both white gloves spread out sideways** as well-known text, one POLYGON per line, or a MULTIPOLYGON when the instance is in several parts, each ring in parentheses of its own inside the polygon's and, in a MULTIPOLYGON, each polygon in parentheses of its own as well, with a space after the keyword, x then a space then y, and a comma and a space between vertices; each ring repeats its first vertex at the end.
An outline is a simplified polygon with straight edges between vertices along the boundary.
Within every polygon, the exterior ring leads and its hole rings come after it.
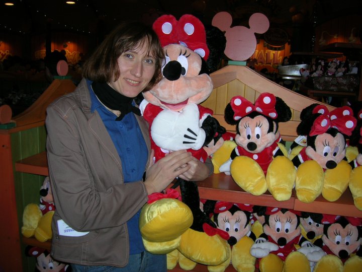
POLYGON ((265 207, 263 233, 250 248, 251 255, 259 258, 259 271, 305 272, 325 255, 320 247, 303 239, 297 214, 292 210, 265 207))

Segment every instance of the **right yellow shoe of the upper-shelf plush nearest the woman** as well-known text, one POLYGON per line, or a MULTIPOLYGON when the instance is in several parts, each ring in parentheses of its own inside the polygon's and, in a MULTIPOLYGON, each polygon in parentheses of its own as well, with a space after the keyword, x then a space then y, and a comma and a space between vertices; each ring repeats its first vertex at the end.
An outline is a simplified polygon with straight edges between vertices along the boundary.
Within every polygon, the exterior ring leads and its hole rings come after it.
POLYGON ((278 201, 288 200, 292 196, 295 179, 296 169, 285 156, 274 158, 266 172, 268 190, 278 201))

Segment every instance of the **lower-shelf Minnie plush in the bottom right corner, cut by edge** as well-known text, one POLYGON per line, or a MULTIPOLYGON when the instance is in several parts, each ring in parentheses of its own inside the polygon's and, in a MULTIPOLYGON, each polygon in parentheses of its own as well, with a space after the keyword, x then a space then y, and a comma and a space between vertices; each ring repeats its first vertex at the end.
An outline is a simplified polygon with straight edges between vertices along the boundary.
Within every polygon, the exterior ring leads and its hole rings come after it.
POLYGON ((314 272, 362 271, 361 219, 335 217, 324 225, 322 249, 327 253, 315 265, 314 272))

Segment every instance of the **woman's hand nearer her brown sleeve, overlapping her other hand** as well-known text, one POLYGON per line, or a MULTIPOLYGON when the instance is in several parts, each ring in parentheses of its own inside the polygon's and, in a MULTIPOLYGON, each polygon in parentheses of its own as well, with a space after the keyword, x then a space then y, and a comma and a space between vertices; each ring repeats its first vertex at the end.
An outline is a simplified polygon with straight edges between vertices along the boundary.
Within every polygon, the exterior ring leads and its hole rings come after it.
MULTIPOLYGON (((196 167, 193 163, 194 157, 186 150, 174 151, 154 164, 152 161, 153 151, 144 182, 148 194, 164 190, 177 176, 181 177, 191 168, 196 167)), ((188 175, 190 176, 190 174, 188 175)))

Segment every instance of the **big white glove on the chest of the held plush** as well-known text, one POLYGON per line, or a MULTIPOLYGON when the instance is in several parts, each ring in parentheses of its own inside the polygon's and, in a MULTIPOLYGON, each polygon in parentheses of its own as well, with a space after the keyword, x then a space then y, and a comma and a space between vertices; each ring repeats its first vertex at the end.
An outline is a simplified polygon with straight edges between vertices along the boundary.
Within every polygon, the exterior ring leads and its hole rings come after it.
POLYGON ((199 124, 200 113, 196 104, 187 105, 182 112, 161 111, 153 120, 151 137, 155 144, 166 150, 199 150, 206 134, 199 124))

